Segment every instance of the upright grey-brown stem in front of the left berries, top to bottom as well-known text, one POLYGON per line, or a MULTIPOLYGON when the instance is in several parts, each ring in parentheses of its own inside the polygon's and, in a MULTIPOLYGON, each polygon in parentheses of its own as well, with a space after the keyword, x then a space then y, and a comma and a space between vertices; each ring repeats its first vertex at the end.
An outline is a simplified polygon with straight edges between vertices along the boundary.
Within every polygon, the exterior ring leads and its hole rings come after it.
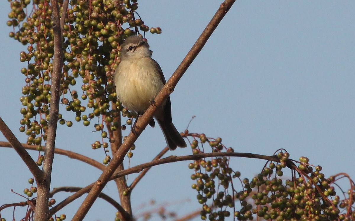
POLYGON ((60 75, 63 65, 62 35, 59 18, 58 0, 50 0, 52 8, 53 36, 54 36, 54 59, 53 72, 51 73, 51 98, 47 130, 47 142, 44 151, 44 161, 42 171, 44 177, 37 182, 37 202, 36 212, 34 214, 35 221, 48 220, 48 199, 51 181, 51 173, 54 158, 55 137, 57 132, 58 114, 59 114, 59 98, 60 98, 60 75))

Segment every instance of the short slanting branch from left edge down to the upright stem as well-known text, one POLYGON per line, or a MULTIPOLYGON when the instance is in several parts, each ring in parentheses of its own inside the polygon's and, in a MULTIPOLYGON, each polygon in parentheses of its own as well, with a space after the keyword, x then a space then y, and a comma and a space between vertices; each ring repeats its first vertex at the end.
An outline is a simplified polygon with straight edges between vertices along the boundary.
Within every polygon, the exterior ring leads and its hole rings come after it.
POLYGON ((9 141, 9 146, 12 146, 13 149, 17 152, 17 154, 21 157, 29 171, 33 174, 35 179, 42 179, 43 172, 38 168, 37 164, 33 161, 32 157, 25 150, 23 145, 21 145, 20 141, 17 140, 16 136, 12 133, 10 128, 5 124, 5 122, 0 117, 0 131, 5 136, 5 138, 9 141))

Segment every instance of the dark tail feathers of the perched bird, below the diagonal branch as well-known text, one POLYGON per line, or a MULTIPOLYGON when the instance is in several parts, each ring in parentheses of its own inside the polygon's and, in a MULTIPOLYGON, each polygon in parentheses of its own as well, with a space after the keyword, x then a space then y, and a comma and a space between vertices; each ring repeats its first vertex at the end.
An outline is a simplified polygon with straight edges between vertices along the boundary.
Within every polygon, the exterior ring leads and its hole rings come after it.
POLYGON ((160 128, 163 131, 166 145, 168 145, 170 150, 175 150, 176 147, 186 147, 186 142, 184 138, 180 135, 179 131, 176 130, 173 122, 166 122, 164 120, 157 120, 160 128))

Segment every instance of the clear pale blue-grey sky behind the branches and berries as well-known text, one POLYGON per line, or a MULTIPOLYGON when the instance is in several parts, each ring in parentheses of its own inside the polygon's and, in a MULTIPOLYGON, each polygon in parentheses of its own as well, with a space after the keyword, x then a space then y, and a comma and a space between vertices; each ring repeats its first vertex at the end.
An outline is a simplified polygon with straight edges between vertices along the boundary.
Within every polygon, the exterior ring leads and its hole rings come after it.
MULTIPOLYGON (((162 34, 147 33, 153 58, 168 79, 200 36, 222 1, 138 1, 138 13, 149 27, 161 27, 162 34)), ((179 131, 189 126, 192 133, 221 137, 236 152, 272 155, 285 148, 290 158, 306 156, 321 165, 326 176, 339 172, 355 178, 355 2, 354 1, 236 1, 208 40, 201 53, 170 96, 173 122, 179 131)), ((8 37, 9 3, 1 2, 0 116, 21 142, 19 120, 25 85, 19 53, 26 50, 8 37)), ((81 81, 77 79, 78 85, 81 81)), ((64 107, 61 107, 65 113, 64 107)), ((84 128, 75 116, 74 125, 58 126, 56 147, 82 153, 102 162, 101 149, 91 144, 100 139, 84 128)), ((92 124, 93 125, 93 124, 92 124)), ((125 131, 127 134, 128 132, 125 131)), ((5 141, 1 135, 0 140, 5 141)), ((165 147, 159 127, 147 127, 136 142, 131 166, 153 159, 165 147)), ((37 159, 38 153, 31 151, 37 159)), ((191 149, 177 149, 169 155, 190 155, 191 149)), ((183 216, 200 208, 191 189, 189 162, 160 165, 151 169, 132 192, 132 209, 137 216, 157 205, 183 216)), ((265 161, 231 159, 230 166, 252 178, 265 161)), ((17 153, 0 150, 0 205, 25 201, 10 192, 22 193, 32 178, 17 153)), ((126 162, 125 167, 128 167, 126 162)), ((51 188, 84 187, 100 171, 68 157, 55 156, 51 188)), ((130 175, 132 182, 136 174, 130 175)), ((289 174, 284 173, 287 178, 289 174)), ((341 182, 345 189, 348 182, 341 182)), ((240 188, 240 187, 238 187, 240 188)), ((103 190, 119 200, 114 183, 103 190)), ((338 192, 340 194, 340 192, 338 192)), ((55 195, 57 202, 70 194, 55 195)), ((84 197, 61 213, 73 216, 84 197)), ((156 208, 156 207, 154 207, 156 208)), ((16 208, 16 220, 24 214, 16 208)), ((97 200, 84 220, 114 220, 115 209, 97 200)), ((12 209, 1 212, 12 219, 12 209)), ((159 220, 155 217, 152 220, 159 220)), ((198 219, 196 219, 198 220, 198 219)))

